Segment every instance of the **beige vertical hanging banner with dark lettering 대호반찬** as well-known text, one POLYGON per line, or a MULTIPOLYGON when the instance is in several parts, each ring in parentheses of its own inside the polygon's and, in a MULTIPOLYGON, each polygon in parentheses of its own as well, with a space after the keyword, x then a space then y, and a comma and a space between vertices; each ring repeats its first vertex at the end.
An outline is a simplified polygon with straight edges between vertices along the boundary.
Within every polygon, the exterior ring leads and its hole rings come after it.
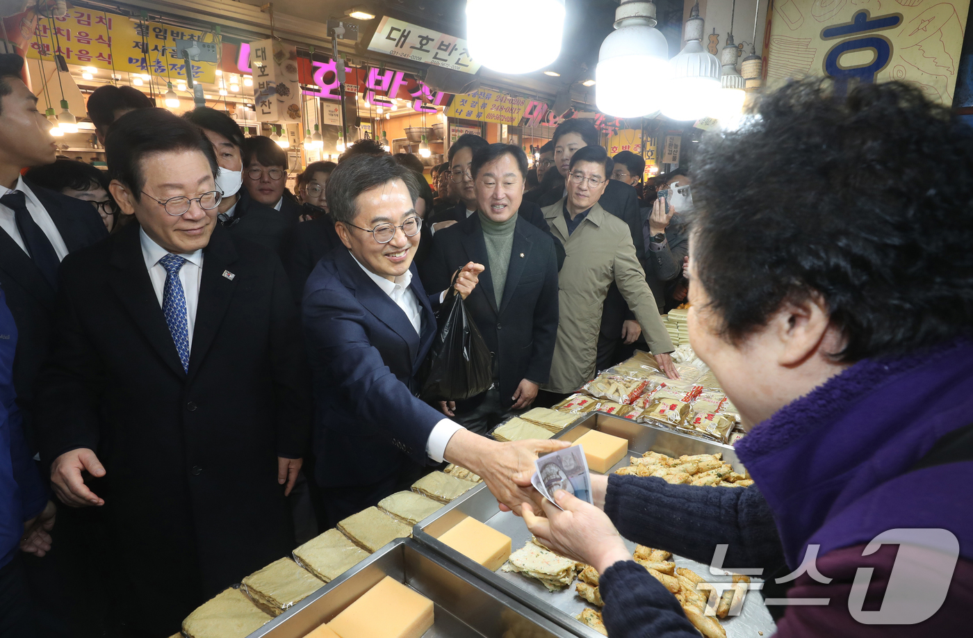
POLYGON ((300 122, 298 50, 278 40, 250 43, 254 110, 259 122, 300 122))

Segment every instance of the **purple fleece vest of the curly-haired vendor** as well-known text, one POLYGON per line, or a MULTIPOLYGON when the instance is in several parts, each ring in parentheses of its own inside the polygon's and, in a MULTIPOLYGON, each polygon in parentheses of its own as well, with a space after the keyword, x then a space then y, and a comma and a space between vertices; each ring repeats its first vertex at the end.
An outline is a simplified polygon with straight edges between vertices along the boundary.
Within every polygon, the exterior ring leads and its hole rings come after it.
POLYGON ((787 564, 896 527, 941 527, 973 559, 973 462, 909 469, 973 423, 973 344, 864 360, 780 408, 736 445, 775 514, 787 564))

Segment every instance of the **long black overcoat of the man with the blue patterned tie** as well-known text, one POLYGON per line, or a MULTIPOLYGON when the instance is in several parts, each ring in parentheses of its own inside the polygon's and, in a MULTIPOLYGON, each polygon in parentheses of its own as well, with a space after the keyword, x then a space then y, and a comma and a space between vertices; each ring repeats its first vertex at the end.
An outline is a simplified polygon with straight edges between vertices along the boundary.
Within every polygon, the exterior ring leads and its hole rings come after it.
POLYGON ((92 489, 126 579, 120 605, 167 635, 293 549, 276 457, 304 455, 310 408, 290 286, 273 252, 217 225, 187 374, 138 225, 71 255, 60 274, 37 381, 42 460, 95 450, 107 474, 92 489))

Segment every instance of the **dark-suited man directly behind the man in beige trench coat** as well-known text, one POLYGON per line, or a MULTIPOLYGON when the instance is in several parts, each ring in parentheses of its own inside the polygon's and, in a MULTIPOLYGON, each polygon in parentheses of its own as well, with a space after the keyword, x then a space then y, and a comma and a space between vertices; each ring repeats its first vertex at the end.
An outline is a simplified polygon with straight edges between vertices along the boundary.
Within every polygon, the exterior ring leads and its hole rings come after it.
MULTIPOLYGON (((566 179, 571 156, 586 146, 598 145, 598 131, 590 120, 567 120, 558 125, 554 137, 555 167, 561 178, 566 179)), ((556 204, 566 193, 566 185, 561 183, 538 200, 541 208, 556 204)), ((635 244, 635 256, 639 262, 645 257, 642 240, 642 220, 638 210, 638 194, 628 184, 611 180, 598 204, 607 212, 618 217, 629 227, 631 241, 635 244)), ((635 321, 634 313, 622 298, 618 286, 612 283, 608 289, 601 309, 601 330, 598 337, 597 370, 603 370, 618 363, 623 343, 631 344, 639 337, 642 329, 635 321)))

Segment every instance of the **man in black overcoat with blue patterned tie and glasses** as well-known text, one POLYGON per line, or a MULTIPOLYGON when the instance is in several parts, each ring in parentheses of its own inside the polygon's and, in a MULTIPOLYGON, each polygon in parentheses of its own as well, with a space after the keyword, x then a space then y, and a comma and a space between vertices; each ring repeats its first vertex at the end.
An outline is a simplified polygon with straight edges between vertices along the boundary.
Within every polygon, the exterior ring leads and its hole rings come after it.
POLYGON ((61 269, 38 429, 58 497, 106 514, 114 620, 162 637, 293 549, 306 361, 279 259, 216 224, 198 128, 141 109, 112 125, 106 154, 138 224, 61 269))

